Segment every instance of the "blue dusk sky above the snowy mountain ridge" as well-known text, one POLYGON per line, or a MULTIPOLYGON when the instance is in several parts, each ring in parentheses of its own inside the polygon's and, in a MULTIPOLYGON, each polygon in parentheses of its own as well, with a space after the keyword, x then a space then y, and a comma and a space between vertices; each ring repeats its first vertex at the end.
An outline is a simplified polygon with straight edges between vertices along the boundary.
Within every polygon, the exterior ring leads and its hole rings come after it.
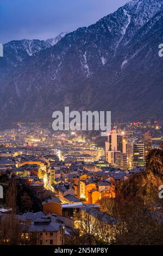
POLYGON ((129 0, 0 0, 0 43, 89 26, 129 0))

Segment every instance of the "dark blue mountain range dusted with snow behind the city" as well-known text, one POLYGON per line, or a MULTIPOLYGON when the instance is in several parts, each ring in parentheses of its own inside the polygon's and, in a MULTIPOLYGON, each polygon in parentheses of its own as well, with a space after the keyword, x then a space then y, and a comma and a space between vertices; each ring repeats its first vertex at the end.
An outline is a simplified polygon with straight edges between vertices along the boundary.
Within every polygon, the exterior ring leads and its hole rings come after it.
POLYGON ((163 0, 133 0, 89 27, 4 45, 1 125, 52 113, 111 111, 112 121, 162 119, 163 0))

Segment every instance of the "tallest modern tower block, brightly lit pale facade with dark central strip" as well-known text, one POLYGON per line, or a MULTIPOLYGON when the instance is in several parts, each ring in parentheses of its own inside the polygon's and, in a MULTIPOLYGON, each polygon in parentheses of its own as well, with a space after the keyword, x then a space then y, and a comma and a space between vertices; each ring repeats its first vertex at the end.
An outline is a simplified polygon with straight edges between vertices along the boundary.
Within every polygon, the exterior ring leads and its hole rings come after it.
POLYGON ((127 139, 122 133, 111 133, 105 142, 105 159, 112 166, 116 162, 116 153, 126 154, 127 139))

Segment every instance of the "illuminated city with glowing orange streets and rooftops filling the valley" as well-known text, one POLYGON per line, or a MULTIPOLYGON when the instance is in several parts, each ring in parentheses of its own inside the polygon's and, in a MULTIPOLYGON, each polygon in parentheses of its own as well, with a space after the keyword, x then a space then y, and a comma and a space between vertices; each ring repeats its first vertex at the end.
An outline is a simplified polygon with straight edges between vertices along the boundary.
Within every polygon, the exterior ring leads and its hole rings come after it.
MULTIPOLYGON (((32 243, 36 232, 37 245, 68 245, 83 235, 86 217, 93 223, 98 216, 99 230, 102 225, 106 233, 104 238, 98 231, 97 239, 106 239, 108 232, 106 242, 111 243, 116 220, 103 212, 103 200, 116 199, 126 180, 146 172, 147 152, 163 141, 161 124, 112 124, 108 137, 95 131, 54 132, 51 124, 15 126, 0 133, 0 178, 4 187, 12 177, 30 191, 21 194, 16 215, 28 220, 30 231, 23 239, 32 243), (35 200, 40 211, 34 214, 35 200)), ((2 218, 10 210, 11 205, 1 203, 2 218)))

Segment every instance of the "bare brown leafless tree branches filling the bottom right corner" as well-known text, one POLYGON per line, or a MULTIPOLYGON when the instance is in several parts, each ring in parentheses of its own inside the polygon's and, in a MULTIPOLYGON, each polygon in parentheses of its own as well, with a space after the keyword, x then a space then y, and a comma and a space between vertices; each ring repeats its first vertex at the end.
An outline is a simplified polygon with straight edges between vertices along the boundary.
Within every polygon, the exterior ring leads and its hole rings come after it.
POLYGON ((139 200, 112 200, 101 202, 102 210, 116 216, 120 225, 114 225, 115 244, 161 245, 162 223, 153 216, 147 205, 139 200))

